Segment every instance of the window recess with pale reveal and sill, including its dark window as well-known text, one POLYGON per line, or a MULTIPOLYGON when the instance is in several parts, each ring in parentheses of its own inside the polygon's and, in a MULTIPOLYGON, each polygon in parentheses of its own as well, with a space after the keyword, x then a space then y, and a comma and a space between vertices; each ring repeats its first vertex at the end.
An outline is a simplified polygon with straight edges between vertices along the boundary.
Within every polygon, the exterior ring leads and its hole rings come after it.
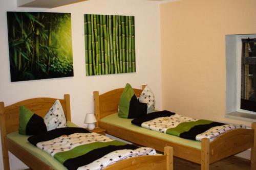
POLYGON ((225 39, 226 116, 255 121, 256 34, 226 35, 225 39))

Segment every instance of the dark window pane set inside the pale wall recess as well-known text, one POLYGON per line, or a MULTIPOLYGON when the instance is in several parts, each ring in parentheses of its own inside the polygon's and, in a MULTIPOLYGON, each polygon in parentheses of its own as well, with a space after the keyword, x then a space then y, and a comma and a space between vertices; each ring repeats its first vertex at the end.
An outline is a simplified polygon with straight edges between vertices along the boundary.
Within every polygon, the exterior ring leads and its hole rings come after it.
POLYGON ((240 108, 256 112, 256 38, 242 39, 240 108))

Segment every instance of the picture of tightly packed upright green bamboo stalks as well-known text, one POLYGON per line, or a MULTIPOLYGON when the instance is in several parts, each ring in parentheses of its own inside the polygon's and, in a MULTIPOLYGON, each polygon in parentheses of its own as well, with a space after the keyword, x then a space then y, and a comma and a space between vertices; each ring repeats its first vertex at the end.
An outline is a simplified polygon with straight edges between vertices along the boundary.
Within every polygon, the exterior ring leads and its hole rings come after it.
POLYGON ((86 75, 135 72, 134 16, 84 14, 86 75))

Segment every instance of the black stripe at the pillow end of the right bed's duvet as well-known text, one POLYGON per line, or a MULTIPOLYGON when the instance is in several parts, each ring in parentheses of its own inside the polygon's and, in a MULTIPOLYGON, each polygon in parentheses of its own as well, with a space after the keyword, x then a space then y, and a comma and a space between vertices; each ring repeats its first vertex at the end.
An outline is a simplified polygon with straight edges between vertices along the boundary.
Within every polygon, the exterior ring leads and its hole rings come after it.
POLYGON ((167 111, 167 110, 163 110, 163 111, 157 111, 157 112, 152 112, 152 113, 148 113, 146 115, 143 115, 139 118, 135 118, 132 120, 132 124, 134 125, 138 125, 141 126, 142 123, 153 120, 155 118, 158 117, 168 117, 168 116, 172 116, 175 113, 167 111))

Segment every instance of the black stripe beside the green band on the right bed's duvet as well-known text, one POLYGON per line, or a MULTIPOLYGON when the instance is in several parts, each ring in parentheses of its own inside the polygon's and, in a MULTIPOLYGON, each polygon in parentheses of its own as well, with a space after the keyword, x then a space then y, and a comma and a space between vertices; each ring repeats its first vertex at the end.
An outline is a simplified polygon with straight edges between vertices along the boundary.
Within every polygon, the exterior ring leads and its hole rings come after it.
POLYGON ((185 138, 185 139, 196 140, 196 136, 198 134, 203 133, 210 128, 213 128, 216 126, 222 126, 222 125, 225 125, 225 124, 219 123, 219 122, 212 122, 212 123, 206 124, 206 125, 197 125, 197 126, 194 126, 193 128, 191 128, 189 131, 181 133, 180 137, 185 138))

